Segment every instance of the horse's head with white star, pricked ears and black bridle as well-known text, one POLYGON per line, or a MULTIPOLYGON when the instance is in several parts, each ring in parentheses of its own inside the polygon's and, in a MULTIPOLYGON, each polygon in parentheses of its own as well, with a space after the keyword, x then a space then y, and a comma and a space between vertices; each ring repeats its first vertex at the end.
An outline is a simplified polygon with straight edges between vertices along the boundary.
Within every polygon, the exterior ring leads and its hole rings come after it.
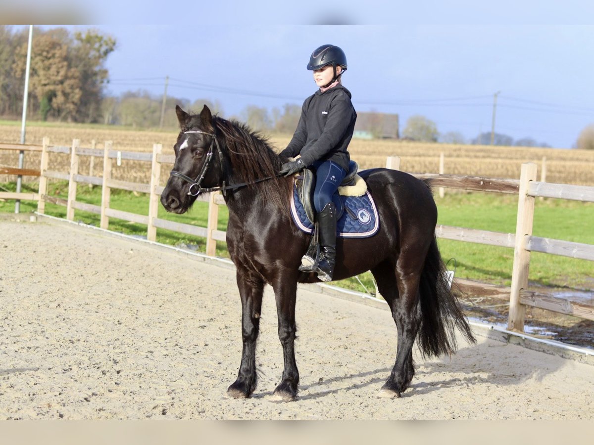
POLYGON ((175 112, 181 131, 173 146, 175 164, 161 194, 161 204, 168 212, 182 214, 194 204, 202 187, 221 183, 222 152, 213 116, 206 105, 200 115, 189 115, 179 106, 175 112))

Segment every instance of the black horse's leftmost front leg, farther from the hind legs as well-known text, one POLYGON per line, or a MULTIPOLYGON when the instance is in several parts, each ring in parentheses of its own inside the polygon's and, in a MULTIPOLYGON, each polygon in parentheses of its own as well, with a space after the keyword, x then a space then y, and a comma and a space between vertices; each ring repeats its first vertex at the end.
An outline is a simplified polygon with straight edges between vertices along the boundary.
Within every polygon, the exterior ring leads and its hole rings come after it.
POLYGON ((241 296, 241 336, 244 342, 237 380, 227 393, 235 399, 245 399, 256 389, 256 341, 260 330, 260 311, 264 281, 260 276, 237 269, 237 285, 241 296))

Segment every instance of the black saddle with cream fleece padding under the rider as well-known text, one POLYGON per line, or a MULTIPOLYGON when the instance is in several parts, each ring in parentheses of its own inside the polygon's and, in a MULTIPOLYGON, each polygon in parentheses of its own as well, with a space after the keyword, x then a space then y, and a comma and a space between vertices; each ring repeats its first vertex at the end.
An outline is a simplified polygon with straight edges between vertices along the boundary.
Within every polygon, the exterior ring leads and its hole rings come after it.
MULTIPOLYGON (((337 193, 340 196, 363 196, 367 191, 367 184, 361 176, 357 174, 359 165, 355 161, 349 161, 349 171, 338 187, 337 193)), ((299 201, 304 207, 305 215, 309 221, 315 221, 315 207, 314 207, 314 189, 315 189, 315 173, 310 169, 304 169, 301 175, 296 178, 295 186, 297 187, 297 194, 299 201)), ((340 202, 336 208, 336 219, 339 220, 343 212, 345 212, 345 205, 342 199, 333 199, 334 202, 340 202)))

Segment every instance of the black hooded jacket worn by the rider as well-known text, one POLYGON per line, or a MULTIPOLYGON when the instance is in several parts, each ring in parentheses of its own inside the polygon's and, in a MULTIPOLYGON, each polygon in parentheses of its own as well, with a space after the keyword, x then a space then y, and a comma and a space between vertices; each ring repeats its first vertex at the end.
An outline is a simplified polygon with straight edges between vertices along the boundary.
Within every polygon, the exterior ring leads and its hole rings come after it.
POLYGON ((330 160, 348 171, 350 156, 346 149, 357 119, 350 97, 350 91, 339 84, 305 99, 295 134, 280 154, 301 154, 306 166, 330 160))

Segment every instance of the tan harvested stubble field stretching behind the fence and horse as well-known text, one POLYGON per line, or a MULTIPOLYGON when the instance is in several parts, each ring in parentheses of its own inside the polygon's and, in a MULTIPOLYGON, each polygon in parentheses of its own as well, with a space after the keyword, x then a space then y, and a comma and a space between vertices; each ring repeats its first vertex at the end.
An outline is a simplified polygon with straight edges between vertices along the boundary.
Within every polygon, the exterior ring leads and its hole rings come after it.
MULTIPOLYGON (((89 129, 67 126, 65 128, 31 126, 27 129, 27 142, 41 144, 48 136, 52 145, 71 145, 72 139, 81 141, 82 147, 103 148, 105 141, 113 141, 114 150, 151 151, 153 144, 163 144, 163 152, 171 154, 177 132, 175 131, 122 131, 118 129, 89 129)), ((0 126, 0 142, 18 142, 20 128, 0 126)), ((290 141, 290 135, 271 135, 270 142, 282 150, 290 141)), ((538 164, 539 174, 542 159, 546 158, 546 181, 576 185, 594 185, 594 150, 560 150, 555 148, 491 147, 489 145, 429 144, 410 141, 353 139, 349 151, 361 169, 386 166, 386 157, 400 156, 402 170, 414 173, 437 173, 440 153, 444 153, 444 173, 466 176, 499 177, 518 179, 522 163, 538 164)), ((38 154, 27 154, 25 168, 39 168, 38 154)), ((100 166, 101 160, 96 160, 100 166)), ((67 171, 67 155, 50 156, 50 169, 67 171)), ((0 166, 17 165, 17 154, 0 151, 0 166)), ((89 171, 89 159, 83 157, 81 172, 89 171)), ((95 169, 97 171, 97 168, 95 169)), ((99 175, 100 176, 100 175, 99 175)), ((115 169, 115 179, 148 182, 150 166, 146 163, 128 161, 115 169)), ((10 180, 0 176, 0 182, 10 180)))

